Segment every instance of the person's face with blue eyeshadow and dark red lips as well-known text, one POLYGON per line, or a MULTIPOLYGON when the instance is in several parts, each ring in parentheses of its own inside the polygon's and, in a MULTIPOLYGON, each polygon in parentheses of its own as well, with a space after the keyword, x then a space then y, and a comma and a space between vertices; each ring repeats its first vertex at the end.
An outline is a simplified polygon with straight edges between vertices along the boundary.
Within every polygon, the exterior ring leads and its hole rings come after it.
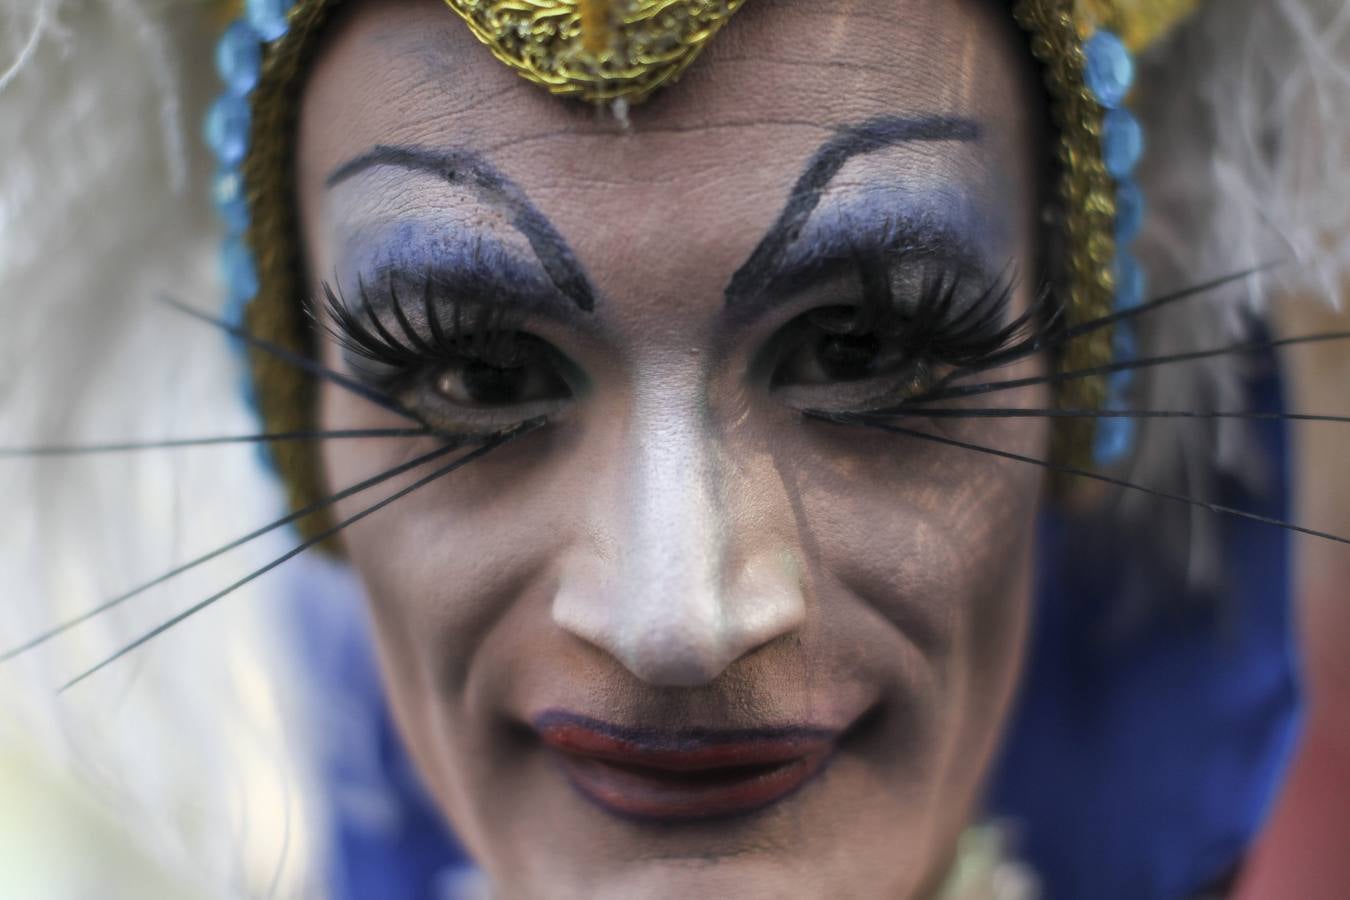
MULTIPOLYGON (((392 296, 428 341, 424 300, 491 333, 328 363, 444 430, 548 420, 343 534, 404 739, 501 896, 942 876, 1021 664, 1041 480, 803 410, 941 372, 937 336, 905 336, 942 283, 972 309, 1017 271, 1006 316, 1029 305, 1025 55, 998 4, 756 0, 625 124, 518 80, 439 0, 336 28, 300 132, 316 291, 396 336, 392 296), (832 333, 860 306, 880 324, 832 333)), ((405 425, 332 387, 321 421, 405 425)), ((1035 420, 907 424, 1045 452, 1035 420)), ((432 447, 323 461, 346 486, 432 447)))

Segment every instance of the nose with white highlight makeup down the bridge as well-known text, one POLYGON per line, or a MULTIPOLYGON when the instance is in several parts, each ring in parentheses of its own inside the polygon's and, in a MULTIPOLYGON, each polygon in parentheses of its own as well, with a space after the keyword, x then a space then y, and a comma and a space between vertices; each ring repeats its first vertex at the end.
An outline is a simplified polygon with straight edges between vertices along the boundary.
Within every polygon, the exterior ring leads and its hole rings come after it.
POLYGON ((651 406, 634 414, 624 471, 595 503, 606 519, 595 530, 610 536, 610 549, 580 551, 552 614, 639 679, 698 687, 796 630, 806 603, 796 557, 780 538, 732 533, 724 506, 732 491, 706 413, 651 406))

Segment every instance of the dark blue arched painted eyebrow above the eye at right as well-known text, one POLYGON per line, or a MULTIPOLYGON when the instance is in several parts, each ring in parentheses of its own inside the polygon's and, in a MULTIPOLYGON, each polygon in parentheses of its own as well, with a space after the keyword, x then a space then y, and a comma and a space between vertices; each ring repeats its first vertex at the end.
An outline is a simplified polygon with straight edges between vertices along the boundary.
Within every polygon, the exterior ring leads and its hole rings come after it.
POLYGON ((840 128, 811 155, 783 212, 732 275, 725 293, 728 312, 742 321, 763 312, 765 289, 783 275, 788 247, 801 236, 825 189, 849 159, 917 140, 969 143, 979 139, 980 124, 960 116, 882 116, 840 128))

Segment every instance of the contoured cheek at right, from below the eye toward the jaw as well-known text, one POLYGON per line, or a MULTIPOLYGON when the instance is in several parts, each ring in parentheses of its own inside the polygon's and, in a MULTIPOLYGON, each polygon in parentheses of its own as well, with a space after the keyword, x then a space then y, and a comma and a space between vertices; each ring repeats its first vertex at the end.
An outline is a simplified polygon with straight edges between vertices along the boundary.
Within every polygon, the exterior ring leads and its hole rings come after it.
MULTIPOLYGON (((941 433, 1041 456, 1046 429, 946 422, 941 433)), ((1021 665, 1030 611, 1038 468, 953 447, 855 429, 818 432, 795 453, 799 528, 815 549, 826 615, 853 609, 852 638, 906 661, 915 722, 930 735, 996 730, 1021 665), (833 598, 833 599, 829 599, 833 598), (869 625, 868 625, 869 623, 869 625)), ((921 741, 922 742, 922 741, 921 741)), ((930 748, 936 749, 936 748, 930 748)))

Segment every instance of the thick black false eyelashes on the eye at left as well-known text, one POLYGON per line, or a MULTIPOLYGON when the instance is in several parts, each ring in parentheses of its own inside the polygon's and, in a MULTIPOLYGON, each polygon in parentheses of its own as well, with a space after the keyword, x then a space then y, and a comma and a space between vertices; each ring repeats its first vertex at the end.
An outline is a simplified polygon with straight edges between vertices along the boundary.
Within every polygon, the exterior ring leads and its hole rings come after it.
POLYGON ((471 359, 510 368, 528 359, 532 344, 522 340, 517 331, 518 318, 500 305, 459 301, 450 308, 450 321, 443 321, 435 300, 444 291, 439 291, 436 279, 427 275, 421 289, 423 333, 409 320, 393 275, 386 291, 392 324, 382 321, 375 312, 363 279, 358 279, 355 305, 347 301, 340 287, 323 282, 327 320, 312 305, 306 313, 351 358, 392 370, 394 378, 435 362, 471 359))

